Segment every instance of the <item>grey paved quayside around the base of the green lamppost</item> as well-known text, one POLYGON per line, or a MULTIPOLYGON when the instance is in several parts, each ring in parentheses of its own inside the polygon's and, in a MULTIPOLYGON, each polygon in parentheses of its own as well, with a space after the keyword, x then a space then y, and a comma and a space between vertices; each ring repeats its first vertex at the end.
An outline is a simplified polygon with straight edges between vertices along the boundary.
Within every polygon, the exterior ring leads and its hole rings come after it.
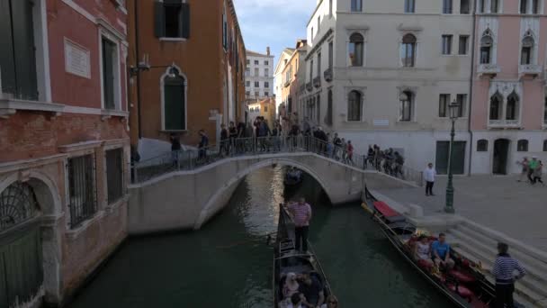
MULTIPOLYGON (((547 186, 531 186, 517 179, 517 176, 454 177, 456 213, 547 251, 547 186)), ((444 208, 446 181, 446 177, 436 178, 435 196, 426 196, 425 187, 379 192, 400 204, 420 205, 426 215, 440 213, 444 208)))

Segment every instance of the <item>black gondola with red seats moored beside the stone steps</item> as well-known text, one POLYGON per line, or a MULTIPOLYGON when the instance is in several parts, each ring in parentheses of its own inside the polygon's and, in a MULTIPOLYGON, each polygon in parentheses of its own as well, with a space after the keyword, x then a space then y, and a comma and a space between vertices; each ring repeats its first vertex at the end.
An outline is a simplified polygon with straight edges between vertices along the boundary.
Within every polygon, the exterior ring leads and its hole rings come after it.
MULTIPOLYGON (((453 303, 465 308, 494 307, 495 286, 482 274, 480 264, 464 258, 457 249, 453 248, 450 254, 455 261, 455 267, 451 270, 431 267, 426 262, 417 261, 414 258, 414 247, 418 236, 426 235, 426 232, 408 222, 402 214, 393 210, 388 204, 377 200, 366 188, 362 206, 372 214, 372 219, 378 222, 388 240, 408 263, 453 303)), ((428 240, 431 242, 436 238, 429 235, 428 240)))

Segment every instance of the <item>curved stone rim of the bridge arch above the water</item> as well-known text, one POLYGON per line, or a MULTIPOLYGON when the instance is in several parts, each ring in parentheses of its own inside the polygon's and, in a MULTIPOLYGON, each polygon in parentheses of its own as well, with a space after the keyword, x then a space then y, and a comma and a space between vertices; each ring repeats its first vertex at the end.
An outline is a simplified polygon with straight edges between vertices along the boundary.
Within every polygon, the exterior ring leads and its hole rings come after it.
POLYGON ((304 165, 303 163, 294 159, 261 159, 255 164, 252 164, 247 168, 240 170, 237 175, 231 177, 231 179, 226 182, 224 186, 220 187, 220 189, 218 189, 213 195, 211 195, 211 198, 209 198, 205 206, 203 206, 202 211, 193 226, 193 229, 200 229, 203 223, 207 222, 215 213, 219 212, 220 209, 224 207, 224 204, 222 204, 222 200, 225 200, 227 198, 227 194, 231 196, 233 191, 236 189, 236 187, 244 177, 247 177, 247 175, 258 169, 271 167, 274 164, 287 167, 295 167, 306 172, 307 174, 309 174, 309 176, 313 177, 319 183, 321 188, 323 188, 323 190, 326 192, 328 198, 332 200, 331 196, 328 195, 331 190, 329 189, 330 187, 327 186, 327 183, 318 175, 317 172, 304 165))

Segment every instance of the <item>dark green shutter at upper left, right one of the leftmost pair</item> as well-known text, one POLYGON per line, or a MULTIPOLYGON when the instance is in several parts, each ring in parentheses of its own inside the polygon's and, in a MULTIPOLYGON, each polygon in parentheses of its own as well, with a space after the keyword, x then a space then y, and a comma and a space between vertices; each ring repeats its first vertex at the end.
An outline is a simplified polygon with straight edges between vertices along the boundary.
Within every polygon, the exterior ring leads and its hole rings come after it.
MULTIPOLYGON (((17 90, 22 99, 38 99, 36 54, 30 0, 12 1, 13 55, 17 90)), ((4 42, 3 42, 4 43, 4 42)))

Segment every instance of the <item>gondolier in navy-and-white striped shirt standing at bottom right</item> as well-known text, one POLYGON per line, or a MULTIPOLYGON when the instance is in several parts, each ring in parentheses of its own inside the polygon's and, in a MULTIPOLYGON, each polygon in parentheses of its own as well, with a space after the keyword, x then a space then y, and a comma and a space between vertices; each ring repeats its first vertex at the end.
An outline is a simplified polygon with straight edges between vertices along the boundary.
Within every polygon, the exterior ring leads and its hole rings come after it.
POLYGON ((525 268, 514 258, 511 258, 507 251, 509 246, 506 243, 498 243, 498 258, 492 268, 496 277, 496 307, 513 308, 513 292, 515 292, 515 281, 526 275, 525 268), (514 272, 518 271, 518 276, 514 272))

